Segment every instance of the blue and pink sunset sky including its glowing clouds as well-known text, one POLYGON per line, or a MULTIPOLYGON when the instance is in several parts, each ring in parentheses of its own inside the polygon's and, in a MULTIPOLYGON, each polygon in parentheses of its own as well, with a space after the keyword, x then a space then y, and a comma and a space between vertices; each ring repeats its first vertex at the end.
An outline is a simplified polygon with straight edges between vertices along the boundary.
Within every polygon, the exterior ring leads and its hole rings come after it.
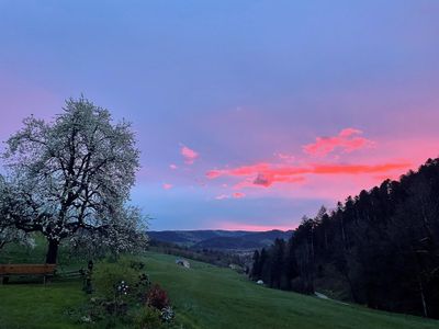
POLYGON ((439 156, 439 1, 0 0, 0 139, 133 123, 150 228, 291 229, 439 156))

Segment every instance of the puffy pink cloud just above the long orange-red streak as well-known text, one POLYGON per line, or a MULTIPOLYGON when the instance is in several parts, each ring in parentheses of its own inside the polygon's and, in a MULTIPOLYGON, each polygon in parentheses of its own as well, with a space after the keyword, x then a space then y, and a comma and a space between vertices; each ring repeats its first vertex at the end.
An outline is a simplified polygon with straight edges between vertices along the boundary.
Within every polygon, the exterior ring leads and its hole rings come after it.
POLYGON ((303 146, 303 151, 311 156, 325 157, 340 149, 342 152, 351 152, 361 148, 373 146, 373 141, 361 137, 362 132, 354 128, 342 129, 337 136, 317 137, 313 144, 303 146))

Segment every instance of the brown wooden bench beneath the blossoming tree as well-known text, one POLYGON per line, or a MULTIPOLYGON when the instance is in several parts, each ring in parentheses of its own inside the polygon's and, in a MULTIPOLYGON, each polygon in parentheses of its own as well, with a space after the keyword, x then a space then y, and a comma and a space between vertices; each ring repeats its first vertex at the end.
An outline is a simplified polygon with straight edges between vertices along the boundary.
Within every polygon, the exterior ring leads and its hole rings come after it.
POLYGON ((48 277, 54 276, 56 264, 0 264, 2 283, 8 283, 9 276, 43 276, 44 284, 48 277))

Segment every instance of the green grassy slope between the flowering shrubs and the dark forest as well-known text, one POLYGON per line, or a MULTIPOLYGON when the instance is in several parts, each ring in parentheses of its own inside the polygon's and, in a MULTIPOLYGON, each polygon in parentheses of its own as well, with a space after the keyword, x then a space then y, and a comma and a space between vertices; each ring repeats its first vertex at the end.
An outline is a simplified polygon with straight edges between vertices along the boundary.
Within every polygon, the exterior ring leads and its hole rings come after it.
POLYGON ((418 317, 374 311, 258 286, 232 270, 149 253, 148 272, 169 292, 180 319, 194 328, 438 328, 418 317))

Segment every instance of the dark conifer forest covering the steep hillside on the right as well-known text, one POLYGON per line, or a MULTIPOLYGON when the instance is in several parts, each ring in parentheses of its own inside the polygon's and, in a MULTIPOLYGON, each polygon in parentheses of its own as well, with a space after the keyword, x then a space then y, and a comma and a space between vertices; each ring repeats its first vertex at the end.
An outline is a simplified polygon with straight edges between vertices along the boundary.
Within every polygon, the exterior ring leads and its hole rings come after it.
POLYGON ((250 276, 439 318, 439 159, 304 217, 289 241, 255 252, 250 276))

